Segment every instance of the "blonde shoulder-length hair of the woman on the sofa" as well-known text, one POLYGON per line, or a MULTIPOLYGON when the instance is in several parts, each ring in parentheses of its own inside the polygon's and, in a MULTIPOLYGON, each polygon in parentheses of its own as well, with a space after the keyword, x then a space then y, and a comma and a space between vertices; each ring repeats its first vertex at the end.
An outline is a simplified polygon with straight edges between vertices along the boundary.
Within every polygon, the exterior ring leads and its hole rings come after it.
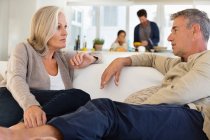
POLYGON ((46 6, 39 9, 32 18, 28 42, 41 55, 48 52, 47 42, 57 30, 60 12, 62 9, 57 6, 46 6))

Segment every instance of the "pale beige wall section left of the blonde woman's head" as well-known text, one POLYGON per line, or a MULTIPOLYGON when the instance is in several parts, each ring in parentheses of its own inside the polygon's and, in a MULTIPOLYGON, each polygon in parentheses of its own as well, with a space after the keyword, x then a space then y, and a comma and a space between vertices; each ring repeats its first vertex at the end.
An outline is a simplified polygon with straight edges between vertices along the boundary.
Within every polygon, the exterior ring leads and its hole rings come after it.
POLYGON ((36 0, 10 0, 8 16, 8 55, 12 49, 25 41, 30 33, 32 15, 36 10, 36 0))

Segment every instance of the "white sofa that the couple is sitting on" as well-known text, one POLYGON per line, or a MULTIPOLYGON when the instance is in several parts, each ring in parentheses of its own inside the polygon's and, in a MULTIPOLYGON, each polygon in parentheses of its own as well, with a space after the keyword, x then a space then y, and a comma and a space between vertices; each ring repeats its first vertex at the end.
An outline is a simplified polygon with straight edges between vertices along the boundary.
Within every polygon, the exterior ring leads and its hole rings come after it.
MULTIPOLYGON (((93 64, 74 72, 73 87, 79 88, 91 95, 91 98, 110 98, 116 101, 124 101, 131 93, 141 89, 159 85, 163 75, 150 67, 126 67, 121 72, 119 86, 115 86, 113 79, 104 88, 100 89, 101 74, 108 64, 117 57, 133 55, 134 53, 103 53, 103 63, 93 64)), ((0 61, 0 73, 4 75, 6 61, 0 61)))

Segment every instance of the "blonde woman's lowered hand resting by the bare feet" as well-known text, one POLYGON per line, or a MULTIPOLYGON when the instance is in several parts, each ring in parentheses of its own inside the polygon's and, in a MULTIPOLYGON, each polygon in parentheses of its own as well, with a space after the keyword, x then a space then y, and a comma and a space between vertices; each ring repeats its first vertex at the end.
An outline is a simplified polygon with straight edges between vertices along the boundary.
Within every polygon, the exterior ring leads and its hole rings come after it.
POLYGON ((45 112, 37 105, 32 105, 26 109, 23 117, 26 128, 38 127, 47 122, 45 112))

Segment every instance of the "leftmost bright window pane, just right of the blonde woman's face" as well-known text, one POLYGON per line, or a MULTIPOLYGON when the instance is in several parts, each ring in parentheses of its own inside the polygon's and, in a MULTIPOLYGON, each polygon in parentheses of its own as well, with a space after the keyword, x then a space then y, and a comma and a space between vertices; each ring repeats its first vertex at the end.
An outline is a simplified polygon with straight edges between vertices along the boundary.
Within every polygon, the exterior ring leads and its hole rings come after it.
POLYGON ((80 48, 83 47, 84 40, 87 41, 87 47, 92 48, 92 40, 96 36, 96 8, 93 6, 72 6, 70 8, 72 12, 68 48, 74 49, 78 35, 80 36, 80 48))

